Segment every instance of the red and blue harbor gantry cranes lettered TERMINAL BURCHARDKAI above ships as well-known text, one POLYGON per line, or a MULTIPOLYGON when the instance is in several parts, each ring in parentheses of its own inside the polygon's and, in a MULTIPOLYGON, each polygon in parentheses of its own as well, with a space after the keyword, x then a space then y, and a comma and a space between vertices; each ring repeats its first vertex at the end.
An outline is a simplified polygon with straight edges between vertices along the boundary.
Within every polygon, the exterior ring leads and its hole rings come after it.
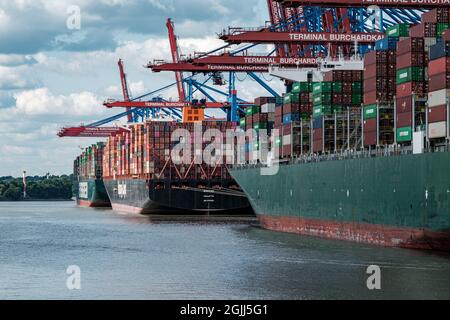
MULTIPOLYGON (((318 64, 318 58, 344 57, 353 55, 358 48, 359 53, 365 53, 373 48, 373 42, 383 37, 382 33, 390 26, 398 23, 417 24, 420 15, 428 9, 449 7, 448 0, 267 0, 270 22, 261 28, 229 28, 221 34, 227 43, 221 48, 208 53, 180 58, 177 38, 172 20, 167 21, 172 61, 170 63, 155 61, 148 65, 153 71, 173 71, 176 82, 131 99, 126 75, 121 68, 122 91, 124 101, 108 100, 105 106, 110 108, 126 108, 116 116, 92 123, 86 126, 63 128, 61 136, 101 136, 108 132, 123 130, 121 127, 100 127, 122 117, 138 121, 153 115, 156 110, 175 119, 181 118, 179 110, 189 108, 220 108, 227 112, 227 119, 236 121, 242 108, 251 105, 239 99, 236 91, 236 73, 247 73, 252 79, 265 88, 271 95, 278 96, 265 83, 257 72, 267 73, 272 65, 282 67, 311 68, 318 64), (376 12, 378 11, 378 12, 376 12), (377 13, 376 21, 374 13, 377 13), (360 45, 354 46, 355 41, 360 45), (231 45, 245 43, 248 45, 230 52, 219 53, 231 45), (275 49, 267 55, 248 54, 248 50, 258 44, 274 44, 275 49), (183 73, 190 72, 192 76, 184 78, 183 73), (209 86, 224 84, 221 73, 228 72, 228 92, 209 86), (204 81, 195 79, 197 74, 207 76, 204 81), (141 101, 173 85, 177 86, 178 101, 165 101, 153 98, 151 101, 141 101), (185 90, 185 85, 188 90, 185 90), (206 99, 194 99, 194 94, 200 92, 206 99), (217 102, 210 93, 226 97, 226 102, 217 102), (99 130, 95 130, 95 128, 99 130)), ((119 62, 120 63, 120 62, 119 62)), ((120 67, 120 64, 119 64, 120 67)), ((192 109, 191 109, 192 110, 192 109)))

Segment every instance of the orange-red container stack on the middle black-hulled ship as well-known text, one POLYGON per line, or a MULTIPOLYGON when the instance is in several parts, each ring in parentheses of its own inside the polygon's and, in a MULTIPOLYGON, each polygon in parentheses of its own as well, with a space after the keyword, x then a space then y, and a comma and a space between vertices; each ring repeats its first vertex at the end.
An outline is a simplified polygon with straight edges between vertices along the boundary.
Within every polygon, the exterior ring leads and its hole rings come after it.
MULTIPOLYGON (((202 126, 203 133, 207 129, 225 132, 235 128, 235 123, 223 121, 208 121, 202 126)), ((147 122, 132 125, 129 132, 110 137, 105 148, 104 178, 172 179, 174 181, 230 179, 224 164, 215 166, 174 164, 170 160, 170 150, 182 140, 180 136, 178 141, 171 141, 172 134, 177 129, 189 131, 192 137, 191 147, 194 150, 193 123, 147 122)), ((209 143, 203 141, 202 150, 209 143)), ((223 156, 227 151, 223 150, 223 156)), ((222 163, 225 160, 223 159, 222 163)))

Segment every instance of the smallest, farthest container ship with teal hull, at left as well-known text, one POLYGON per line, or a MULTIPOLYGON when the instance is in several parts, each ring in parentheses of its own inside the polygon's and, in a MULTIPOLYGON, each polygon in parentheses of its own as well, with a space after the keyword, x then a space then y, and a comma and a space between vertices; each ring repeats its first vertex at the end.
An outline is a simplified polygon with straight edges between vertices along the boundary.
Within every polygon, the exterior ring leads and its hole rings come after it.
POLYGON ((79 206, 110 207, 108 194, 103 183, 103 150, 99 142, 85 149, 74 161, 74 194, 79 206))

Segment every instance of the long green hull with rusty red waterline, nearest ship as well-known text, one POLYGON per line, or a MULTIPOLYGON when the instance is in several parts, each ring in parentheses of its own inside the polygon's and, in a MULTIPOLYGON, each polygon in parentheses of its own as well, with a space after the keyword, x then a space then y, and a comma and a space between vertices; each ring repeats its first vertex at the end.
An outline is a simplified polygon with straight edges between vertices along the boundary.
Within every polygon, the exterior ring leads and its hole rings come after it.
POLYGON ((234 169, 262 227, 387 247, 450 250, 450 153, 234 169))

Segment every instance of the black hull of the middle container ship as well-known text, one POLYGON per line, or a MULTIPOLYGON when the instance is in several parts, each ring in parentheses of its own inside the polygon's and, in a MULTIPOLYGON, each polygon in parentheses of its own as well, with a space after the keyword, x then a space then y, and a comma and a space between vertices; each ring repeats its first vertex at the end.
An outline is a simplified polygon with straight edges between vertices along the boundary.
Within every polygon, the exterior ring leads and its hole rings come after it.
MULTIPOLYGON (((186 181, 185 185, 194 185, 186 181)), ((249 215, 251 207, 240 193, 177 188, 170 181, 105 180, 115 211, 137 214, 249 215)))

